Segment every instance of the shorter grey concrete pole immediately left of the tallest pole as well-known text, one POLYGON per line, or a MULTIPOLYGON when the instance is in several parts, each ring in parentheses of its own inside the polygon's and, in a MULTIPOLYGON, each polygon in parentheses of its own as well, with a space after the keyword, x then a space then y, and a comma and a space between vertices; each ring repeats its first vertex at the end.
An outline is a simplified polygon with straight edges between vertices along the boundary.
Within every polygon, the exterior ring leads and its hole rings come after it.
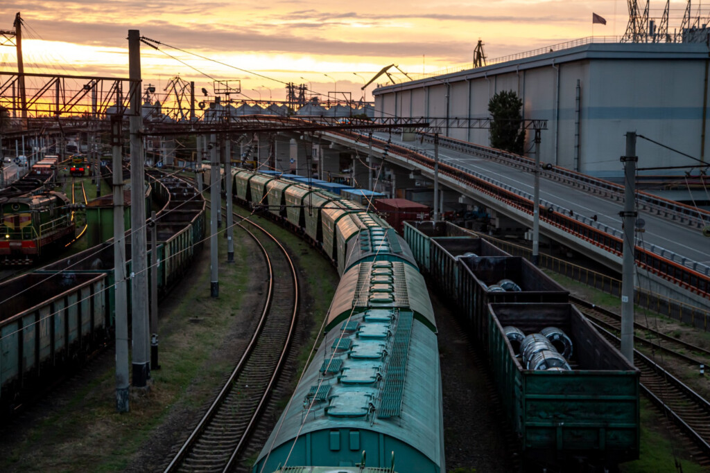
POLYGON ((111 116, 114 190, 114 299, 116 301, 116 411, 129 411, 129 316, 126 308, 126 238, 124 236, 124 169, 121 118, 111 116))

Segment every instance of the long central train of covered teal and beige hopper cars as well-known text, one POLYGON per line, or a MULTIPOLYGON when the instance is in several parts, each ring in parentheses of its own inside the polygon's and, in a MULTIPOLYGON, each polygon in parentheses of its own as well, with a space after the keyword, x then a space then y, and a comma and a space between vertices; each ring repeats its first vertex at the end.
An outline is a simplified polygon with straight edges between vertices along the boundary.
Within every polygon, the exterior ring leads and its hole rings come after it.
POLYGON ((236 200, 297 230, 341 276, 320 348, 253 471, 445 472, 437 328, 407 243, 328 191, 233 179, 236 200))

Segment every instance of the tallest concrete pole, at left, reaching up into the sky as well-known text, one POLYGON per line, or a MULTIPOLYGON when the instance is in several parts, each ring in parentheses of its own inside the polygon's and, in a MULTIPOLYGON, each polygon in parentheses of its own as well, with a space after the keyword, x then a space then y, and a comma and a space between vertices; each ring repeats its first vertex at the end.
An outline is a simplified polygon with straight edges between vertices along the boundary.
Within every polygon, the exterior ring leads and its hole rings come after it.
POLYGON ((141 116, 141 33, 129 30, 131 80, 131 327, 133 328, 133 387, 143 388, 151 377, 148 337, 148 264, 146 262, 146 173, 141 116))

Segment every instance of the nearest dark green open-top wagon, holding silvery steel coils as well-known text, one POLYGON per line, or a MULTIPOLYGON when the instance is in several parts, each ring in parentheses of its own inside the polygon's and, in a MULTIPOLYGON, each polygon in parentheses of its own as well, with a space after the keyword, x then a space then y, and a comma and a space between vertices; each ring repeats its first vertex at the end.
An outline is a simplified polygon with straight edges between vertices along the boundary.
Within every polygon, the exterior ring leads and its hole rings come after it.
MULTIPOLYGON (((490 304, 486 316, 488 361, 526 458, 563 465, 563 471, 579 460, 613 467, 638 458, 640 373, 576 307, 490 304), (573 369, 525 369, 503 329, 509 325, 525 333, 564 330, 577 347, 569 360, 573 369)), ((552 362, 553 353, 544 356, 551 365, 560 363, 552 362)))

